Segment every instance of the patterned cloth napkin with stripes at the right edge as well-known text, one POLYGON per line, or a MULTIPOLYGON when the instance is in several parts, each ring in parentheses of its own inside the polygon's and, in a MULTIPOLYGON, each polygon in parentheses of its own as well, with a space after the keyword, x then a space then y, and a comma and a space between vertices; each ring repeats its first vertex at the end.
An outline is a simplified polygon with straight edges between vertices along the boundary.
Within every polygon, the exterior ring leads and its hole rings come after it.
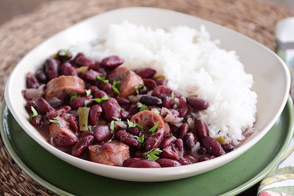
MULTIPOLYGON (((277 54, 291 70, 291 97, 294 99, 294 17, 276 25, 277 54)), ((258 196, 294 196, 294 138, 279 164, 262 180, 258 196)))

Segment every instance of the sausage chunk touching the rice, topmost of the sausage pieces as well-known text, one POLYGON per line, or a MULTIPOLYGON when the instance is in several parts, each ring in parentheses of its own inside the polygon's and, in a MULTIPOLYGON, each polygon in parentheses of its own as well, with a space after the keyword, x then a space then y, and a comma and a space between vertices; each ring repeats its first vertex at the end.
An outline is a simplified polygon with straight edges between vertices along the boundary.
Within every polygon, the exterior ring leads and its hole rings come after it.
POLYGON ((115 79, 121 81, 118 89, 120 91, 119 96, 123 98, 133 95, 136 91, 135 87, 138 84, 144 84, 142 77, 127 67, 115 68, 108 74, 107 78, 111 83, 113 83, 115 79))

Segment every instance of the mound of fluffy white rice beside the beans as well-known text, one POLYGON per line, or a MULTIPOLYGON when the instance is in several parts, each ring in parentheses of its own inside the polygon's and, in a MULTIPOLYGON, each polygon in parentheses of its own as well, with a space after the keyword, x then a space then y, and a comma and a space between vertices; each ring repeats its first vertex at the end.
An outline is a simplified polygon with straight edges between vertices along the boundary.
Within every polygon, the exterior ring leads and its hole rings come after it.
POLYGON ((186 26, 152 29, 123 22, 111 24, 98 37, 76 51, 97 60, 119 55, 131 69, 155 69, 183 96, 208 100, 209 108, 197 115, 208 124, 210 136, 224 136, 236 145, 244 139, 242 132, 253 127, 257 102, 256 93, 250 90, 253 77, 245 73, 235 51, 220 49, 210 40, 204 26, 199 30, 186 26))

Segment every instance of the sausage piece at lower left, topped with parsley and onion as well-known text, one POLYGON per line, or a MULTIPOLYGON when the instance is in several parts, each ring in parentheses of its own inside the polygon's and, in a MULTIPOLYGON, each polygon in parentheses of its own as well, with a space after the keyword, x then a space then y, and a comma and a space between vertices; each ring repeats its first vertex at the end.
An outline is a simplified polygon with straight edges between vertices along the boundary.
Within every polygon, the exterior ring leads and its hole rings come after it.
POLYGON ((56 117, 56 123, 49 124, 49 134, 51 137, 57 137, 59 134, 72 136, 73 138, 77 138, 77 136, 73 133, 68 123, 61 117, 56 117), (58 122, 58 123, 57 123, 58 122))

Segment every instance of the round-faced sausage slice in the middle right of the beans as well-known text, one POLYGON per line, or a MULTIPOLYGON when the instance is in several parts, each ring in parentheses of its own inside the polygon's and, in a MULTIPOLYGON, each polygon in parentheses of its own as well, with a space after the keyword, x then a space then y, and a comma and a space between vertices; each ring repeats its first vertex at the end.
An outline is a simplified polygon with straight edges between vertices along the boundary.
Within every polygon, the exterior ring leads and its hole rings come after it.
POLYGON ((144 130, 149 130, 155 123, 158 122, 156 131, 164 129, 167 133, 170 130, 168 123, 164 122, 164 119, 159 114, 152 112, 150 110, 143 110, 132 116, 131 122, 138 123, 143 126, 144 130))

